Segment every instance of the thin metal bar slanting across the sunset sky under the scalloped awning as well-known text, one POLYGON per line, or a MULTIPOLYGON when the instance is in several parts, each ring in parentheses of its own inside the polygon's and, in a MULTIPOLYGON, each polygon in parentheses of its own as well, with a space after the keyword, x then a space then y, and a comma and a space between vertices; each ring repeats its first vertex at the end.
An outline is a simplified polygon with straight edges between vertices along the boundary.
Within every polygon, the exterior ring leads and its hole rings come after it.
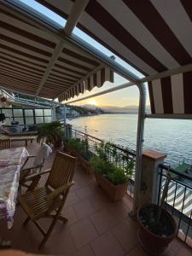
POLYGON ((131 82, 128 82, 128 83, 125 83, 125 84, 120 84, 118 86, 115 86, 111 89, 108 89, 108 90, 102 90, 100 92, 97 92, 95 94, 92 94, 90 96, 85 96, 81 99, 77 99, 77 100, 74 100, 74 101, 71 101, 71 102, 66 102, 67 104, 71 104, 71 103, 74 103, 74 102, 79 102, 79 101, 84 101, 84 100, 87 100, 87 99, 90 99, 90 98, 93 98, 93 97, 96 97, 96 96, 102 96, 104 94, 107 94, 109 92, 113 92, 113 91, 116 91, 116 90, 122 90, 122 89, 125 89, 127 87, 130 87, 132 85, 136 85, 135 83, 131 83, 131 82))

